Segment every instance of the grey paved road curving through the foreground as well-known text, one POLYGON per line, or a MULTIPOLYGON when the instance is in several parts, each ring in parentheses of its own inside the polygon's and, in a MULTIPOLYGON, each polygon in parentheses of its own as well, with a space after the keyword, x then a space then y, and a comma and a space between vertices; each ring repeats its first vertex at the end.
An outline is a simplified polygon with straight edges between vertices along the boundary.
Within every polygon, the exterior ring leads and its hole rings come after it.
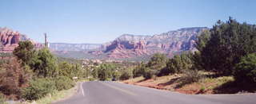
POLYGON ((55 104, 256 104, 256 94, 188 95, 94 81, 80 83, 77 94, 55 104))

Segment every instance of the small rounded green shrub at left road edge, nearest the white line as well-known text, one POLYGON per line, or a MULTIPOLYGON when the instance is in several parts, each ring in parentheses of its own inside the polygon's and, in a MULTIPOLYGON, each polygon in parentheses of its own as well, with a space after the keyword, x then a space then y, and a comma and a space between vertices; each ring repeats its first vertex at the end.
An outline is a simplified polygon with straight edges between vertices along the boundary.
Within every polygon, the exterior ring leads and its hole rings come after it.
POLYGON ((67 90, 74 87, 74 81, 67 76, 58 76, 55 79, 55 87, 58 91, 67 90))

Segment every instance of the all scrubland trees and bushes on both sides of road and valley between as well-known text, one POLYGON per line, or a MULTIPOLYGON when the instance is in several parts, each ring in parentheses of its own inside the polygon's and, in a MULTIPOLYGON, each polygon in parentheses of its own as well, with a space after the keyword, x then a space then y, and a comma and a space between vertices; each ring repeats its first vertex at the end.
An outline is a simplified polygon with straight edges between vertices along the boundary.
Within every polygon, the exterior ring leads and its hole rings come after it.
MULTIPOLYGON (((74 79, 122 80, 187 94, 255 92, 256 26, 230 19, 199 35, 195 52, 172 58, 156 53, 148 62, 57 59, 48 48, 22 41, 13 57, 1 61, 0 102, 4 98, 38 100, 74 87, 74 79)), ((6 55, 3 55, 6 56, 6 55)))

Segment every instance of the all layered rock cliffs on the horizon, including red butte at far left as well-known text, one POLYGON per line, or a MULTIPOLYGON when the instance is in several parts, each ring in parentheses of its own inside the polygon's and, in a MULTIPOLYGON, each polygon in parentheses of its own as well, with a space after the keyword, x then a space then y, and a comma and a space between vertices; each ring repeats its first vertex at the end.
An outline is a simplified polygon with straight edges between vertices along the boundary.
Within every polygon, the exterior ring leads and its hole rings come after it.
MULTIPOLYGON (((85 54, 90 57, 106 59, 150 56, 156 52, 173 56, 179 52, 196 50, 194 48, 195 40, 204 29, 207 28, 184 28, 153 36, 123 34, 107 44, 50 43, 50 48, 60 54, 81 52, 79 55, 85 54)), ((12 52, 18 46, 20 40, 30 39, 26 35, 22 35, 11 29, 0 28, 0 52, 12 52)), ((33 43, 36 48, 43 47, 42 44, 33 43)))

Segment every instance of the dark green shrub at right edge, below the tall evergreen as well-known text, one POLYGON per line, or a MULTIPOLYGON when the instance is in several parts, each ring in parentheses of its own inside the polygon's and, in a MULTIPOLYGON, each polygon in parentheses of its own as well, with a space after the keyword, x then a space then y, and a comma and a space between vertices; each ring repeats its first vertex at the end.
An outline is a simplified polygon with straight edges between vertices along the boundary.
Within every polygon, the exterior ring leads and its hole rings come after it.
POLYGON ((234 78, 241 83, 256 83, 256 53, 242 57, 234 70, 234 78))

